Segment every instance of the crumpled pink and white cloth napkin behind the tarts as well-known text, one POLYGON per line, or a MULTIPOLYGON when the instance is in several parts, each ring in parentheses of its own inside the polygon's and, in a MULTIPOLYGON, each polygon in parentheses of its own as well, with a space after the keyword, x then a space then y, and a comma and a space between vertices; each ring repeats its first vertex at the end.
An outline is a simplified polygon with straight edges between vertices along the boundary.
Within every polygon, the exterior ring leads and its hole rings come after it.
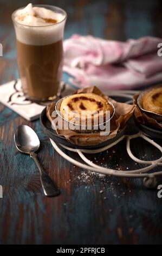
POLYGON ((77 87, 133 89, 162 82, 160 38, 146 36, 126 42, 73 35, 64 41, 64 66, 77 87))

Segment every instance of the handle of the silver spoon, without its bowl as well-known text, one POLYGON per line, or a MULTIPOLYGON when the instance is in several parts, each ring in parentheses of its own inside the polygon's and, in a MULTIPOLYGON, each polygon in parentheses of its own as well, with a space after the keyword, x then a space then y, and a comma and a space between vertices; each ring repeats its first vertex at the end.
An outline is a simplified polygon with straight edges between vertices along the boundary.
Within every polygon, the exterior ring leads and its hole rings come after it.
POLYGON ((44 172, 40 162, 37 159, 37 155, 35 153, 30 153, 30 157, 33 158, 33 160, 36 163, 36 166, 38 167, 40 174, 41 174, 41 184, 43 188, 43 192, 45 196, 47 197, 55 197, 60 194, 60 189, 54 184, 54 182, 50 179, 47 173, 44 172))

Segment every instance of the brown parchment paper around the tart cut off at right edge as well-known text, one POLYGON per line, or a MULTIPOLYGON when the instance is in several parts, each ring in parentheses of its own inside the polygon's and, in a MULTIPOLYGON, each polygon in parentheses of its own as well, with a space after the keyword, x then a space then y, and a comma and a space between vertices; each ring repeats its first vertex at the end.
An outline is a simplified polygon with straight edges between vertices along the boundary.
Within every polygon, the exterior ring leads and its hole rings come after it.
POLYGON ((135 118, 137 119, 137 121, 139 123, 146 124, 146 125, 152 126, 154 128, 162 129, 162 124, 161 123, 158 123, 157 120, 155 120, 151 117, 148 117, 148 115, 146 115, 146 113, 141 112, 141 110, 140 110, 140 108, 138 107, 138 104, 137 104, 138 96, 139 96, 139 94, 135 94, 133 96, 134 104, 137 105, 137 107, 134 110, 134 115, 135 115, 135 118))

